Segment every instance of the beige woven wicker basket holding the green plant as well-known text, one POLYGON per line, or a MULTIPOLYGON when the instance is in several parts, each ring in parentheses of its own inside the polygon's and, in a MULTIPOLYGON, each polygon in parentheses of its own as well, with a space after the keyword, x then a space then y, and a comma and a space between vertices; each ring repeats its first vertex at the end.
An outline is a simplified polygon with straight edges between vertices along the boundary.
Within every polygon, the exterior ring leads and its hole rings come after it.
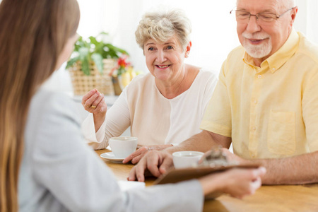
POLYGON ((104 70, 102 74, 98 71, 94 63, 90 64, 90 75, 87 76, 81 71, 81 62, 69 68, 71 81, 73 84, 74 95, 85 95, 93 88, 97 88, 104 95, 114 95, 114 87, 112 85, 112 76, 110 73, 116 67, 116 59, 103 59, 104 70))

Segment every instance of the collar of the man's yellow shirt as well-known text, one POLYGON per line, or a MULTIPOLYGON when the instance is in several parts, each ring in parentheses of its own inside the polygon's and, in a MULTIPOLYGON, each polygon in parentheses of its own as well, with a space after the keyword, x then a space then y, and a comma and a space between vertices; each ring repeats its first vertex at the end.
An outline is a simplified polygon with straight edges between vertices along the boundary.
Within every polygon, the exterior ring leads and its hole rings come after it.
MULTIPOLYGON (((272 54, 271 57, 264 60, 261 63, 261 66, 262 64, 267 63, 269 64, 269 69, 271 70, 271 73, 277 71, 279 68, 281 68, 281 66, 283 66, 283 64, 285 64, 286 61, 288 61, 288 59, 290 59, 290 57, 293 56, 293 54, 295 54, 295 52, 298 49, 299 39, 300 38, 298 33, 293 28, 283 46, 280 49, 278 49, 277 52, 272 54)), ((250 57, 249 54, 247 54, 247 52, 245 52, 243 56, 243 61, 245 62, 245 64, 248 64, 249 66, 254 66, 253 58, 250 57)))

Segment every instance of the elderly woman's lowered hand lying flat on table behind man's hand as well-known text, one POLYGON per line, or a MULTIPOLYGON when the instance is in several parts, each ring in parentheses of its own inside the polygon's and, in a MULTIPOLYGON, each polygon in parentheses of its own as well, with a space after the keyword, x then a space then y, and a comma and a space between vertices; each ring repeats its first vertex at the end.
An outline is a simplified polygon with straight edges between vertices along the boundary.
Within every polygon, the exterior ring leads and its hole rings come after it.
POLYGON ((152 146, 142 146, 138 150, 136 150, 134 153, 131 153, 128 157, 126 157, 122 163, 128 163, 131 161, 131 163, 136 164, 143 158, 148 151, 160 151, 165 148, 171 147, 172 144, 167 144, 167 145, 152 145, 152 146))

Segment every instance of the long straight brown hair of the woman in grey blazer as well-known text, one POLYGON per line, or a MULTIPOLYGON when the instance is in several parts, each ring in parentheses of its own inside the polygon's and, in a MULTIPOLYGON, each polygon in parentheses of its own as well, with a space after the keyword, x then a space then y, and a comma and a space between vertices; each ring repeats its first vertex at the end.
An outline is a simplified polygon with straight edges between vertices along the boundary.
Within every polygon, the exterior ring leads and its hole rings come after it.
POLYGON ((79 22, 76 0, 0 4, 0 211, 18 211, 18 172, 30 100, 56 69, 79 22))

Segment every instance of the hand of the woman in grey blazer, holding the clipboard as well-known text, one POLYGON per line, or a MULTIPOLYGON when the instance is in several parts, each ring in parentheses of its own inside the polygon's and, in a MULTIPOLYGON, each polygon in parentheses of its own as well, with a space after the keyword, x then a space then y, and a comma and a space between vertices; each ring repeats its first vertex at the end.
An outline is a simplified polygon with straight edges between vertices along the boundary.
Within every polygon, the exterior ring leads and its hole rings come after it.
POLYGON ((199 182, 204 195, 212 192, 222 192, 242 199, 244 196, 254 194, 261 187, 261 177, 265 175, 265 172, 264 167, 232 168, 225 172, 201 177, 199 182))

